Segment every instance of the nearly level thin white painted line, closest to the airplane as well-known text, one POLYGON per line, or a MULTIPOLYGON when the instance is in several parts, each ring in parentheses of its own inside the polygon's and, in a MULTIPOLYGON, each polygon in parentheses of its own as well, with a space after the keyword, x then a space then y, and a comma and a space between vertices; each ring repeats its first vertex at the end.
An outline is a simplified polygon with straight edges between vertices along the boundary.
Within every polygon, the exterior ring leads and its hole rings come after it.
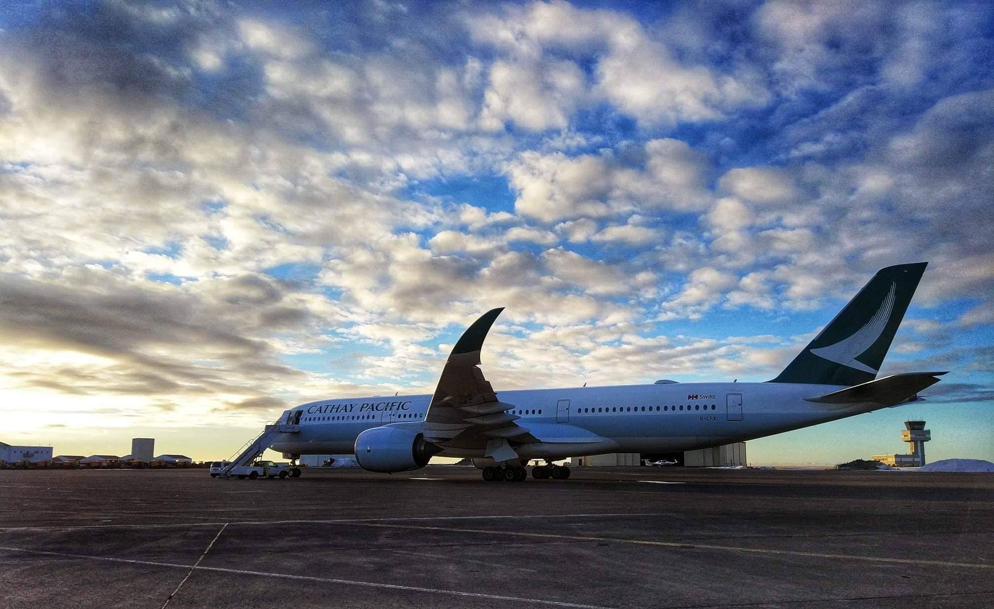
MULTIPOLYGON (((229 522, 149 522, 144 524, 77 524, 71 526, 0 526, 0 533, 18 531, 45 530, 83 530, 86 528, 176 528, 180 526, 221 526, 230 524, 267 525, 267 524, 349 524, 351 522, 408 522, 418 520, 486 520, 486 519, 520 519, 520 518, 587 518, 614 516, 662 516, 672 515, 662 511, 624 511, 620 513, 533 513, 533 514, 499 514, 478 516, 396 516, 384 518, 320 518, 305 520, 231 520, 229 522)), ((195 516, 196 517, 196 516, 195 516)))

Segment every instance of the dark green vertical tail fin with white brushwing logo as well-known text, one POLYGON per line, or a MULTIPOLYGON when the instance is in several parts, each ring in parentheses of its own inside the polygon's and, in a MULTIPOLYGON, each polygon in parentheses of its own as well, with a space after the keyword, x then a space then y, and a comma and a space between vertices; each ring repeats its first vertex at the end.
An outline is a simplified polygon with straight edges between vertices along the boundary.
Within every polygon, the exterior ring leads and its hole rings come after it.
POLYGON ((872 381, 891 348, 927 264, 897 265, 878 271, 769 382, 852 386, 872 381))

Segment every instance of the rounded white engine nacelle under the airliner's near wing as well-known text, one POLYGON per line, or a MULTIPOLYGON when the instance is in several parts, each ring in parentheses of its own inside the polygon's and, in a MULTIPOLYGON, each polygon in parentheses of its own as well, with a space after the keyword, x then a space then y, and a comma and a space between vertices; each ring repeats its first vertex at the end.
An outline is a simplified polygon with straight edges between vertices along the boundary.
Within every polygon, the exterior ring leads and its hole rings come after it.
POLYGON ((356 461, 368 472, 410 472, 423 468, 441 449, 424 434, 404 427, 374 427, 356 438, 356 461))

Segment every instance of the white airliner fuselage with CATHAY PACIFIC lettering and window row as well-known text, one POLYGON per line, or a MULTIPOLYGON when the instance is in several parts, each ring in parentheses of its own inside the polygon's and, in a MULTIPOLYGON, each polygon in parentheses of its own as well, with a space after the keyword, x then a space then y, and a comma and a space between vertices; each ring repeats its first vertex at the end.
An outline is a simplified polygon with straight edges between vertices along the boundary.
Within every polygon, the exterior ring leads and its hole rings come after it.
MULTIPOLYGON (((604 453, 666 453, 742 442, 868 412, 879 404, 827 405, 805 397, 842 389, 791 383, 666 383, 501 391, 515 423, 544 441, 523 459, 604 453)), ((348 454, 356 437, 384 425, 420 426, 430 395, 332 399, 297 406, 299 431, 272 449, 294 455, 348 454)), ((479 445, 443 445, 444 457, 481 457, 479 445)))

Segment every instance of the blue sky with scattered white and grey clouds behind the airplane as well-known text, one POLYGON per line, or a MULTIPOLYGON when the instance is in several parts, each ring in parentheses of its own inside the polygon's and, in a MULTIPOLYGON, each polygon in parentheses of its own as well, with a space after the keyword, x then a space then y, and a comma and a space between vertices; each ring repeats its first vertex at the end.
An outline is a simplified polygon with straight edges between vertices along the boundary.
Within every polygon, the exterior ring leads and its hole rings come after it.
POLYGON ((928 261, 930 403, 749 461, 994 460, 990 3, 283 4, 0 9, 0 440, 223 458, 493 306, 498 391, 766 380, 928 261))

